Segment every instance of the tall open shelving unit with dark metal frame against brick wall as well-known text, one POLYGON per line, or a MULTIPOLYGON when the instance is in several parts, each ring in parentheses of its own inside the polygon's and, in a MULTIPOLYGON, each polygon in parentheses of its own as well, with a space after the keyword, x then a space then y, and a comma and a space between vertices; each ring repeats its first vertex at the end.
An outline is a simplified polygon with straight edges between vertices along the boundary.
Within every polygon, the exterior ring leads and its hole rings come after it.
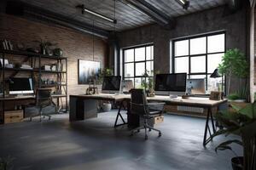
MULTIPOLYGON (((62 99, 65 99, 65 110, 67 111, 68 104, 67 104, 67 75, 62 77, 62 73, 65 75, 67 74, 67 58, 66 57, 57 57, 57 56, 50 56, 46 54, 37 54, 37 53, 32 53, 32 52, 27 52, 27 51, 18 51, 18 50, 4 50, 0 49, 0 55, 2 54, 3 59, 9 59, 9 57, 17 57, 18 60, 20 60, 20 65, 24 64, 25 62, 29 62, 30 65, 33 67, 32 69, 22 69, 22 68, 6 68, 5 66, 0 67, 0 72, 3 74, 3 77, 0 77, 0 82, 3 82, 5 80, 8 80, 9 77, 15 77, 16 74, 19 72, 26 73, 30 75, 29 77, 34 77, 34 81, 38 81, 38 83, 35 83, 35 89, 36 88, 55 88, 56 90, 61 90, 61 93, 63 94, 52 94, 52 98, 54 98, 57 102, 58 107, 60 107, 60 104, 62 105, 62 99), (48 62, 49 59, 52 59, 50 63, 55 62, 56 63, 56 68, 57 65, 63 66, 64 71, 44 71, 43 70, 43 65, 42 60, 44 59, 45 62, 48 62), (38 62, 36 62, 38 61, 38 62), (63 64, 65 63, 65 64, 63 64), (63 64, 63 65, 62 65, 63 64), (6 76, 5 76, 6 74, 6 76), (36 75, 34 75, 36 74, 36 75), (53 74, 55 76, 55 82, 58 82, 56 84, 41 84, 42 77, 46 76, 44 74, 53 74), (36 80, 37 78, 37 80, 36 80), (63 83, 63 84, 61 84, 63 83), (63 87, 63 88, 61 88, 63 87), (63 91, 62 91, 63 90, 63 91)), ((17 60, 16 59, 16 60, 17 60)), ((52 75, 50 75, 52 76, 52 75)), ((5 83, 3 83, 3 87, 1 88, 1 91, 4 91, 6 89, 5 83)), ((9 102, 12 102, 13 100, 34 100, 35 96, 22 96, 22 97, 14 97, 14 96, 5 96, 3 94, 2 97, 0 97, 0 102, 1 102, 1 108, 0 108, 0 124, 4 122, 4 114, 3 114, 3 108, 4 105, 7 105, 9 102)), ((64 105, 62 105, 64 107, 64 105)), ((62 107, 61 106, 61 107, 62 107)), ((5 109, 6 111, 7 109, 5 109)))

